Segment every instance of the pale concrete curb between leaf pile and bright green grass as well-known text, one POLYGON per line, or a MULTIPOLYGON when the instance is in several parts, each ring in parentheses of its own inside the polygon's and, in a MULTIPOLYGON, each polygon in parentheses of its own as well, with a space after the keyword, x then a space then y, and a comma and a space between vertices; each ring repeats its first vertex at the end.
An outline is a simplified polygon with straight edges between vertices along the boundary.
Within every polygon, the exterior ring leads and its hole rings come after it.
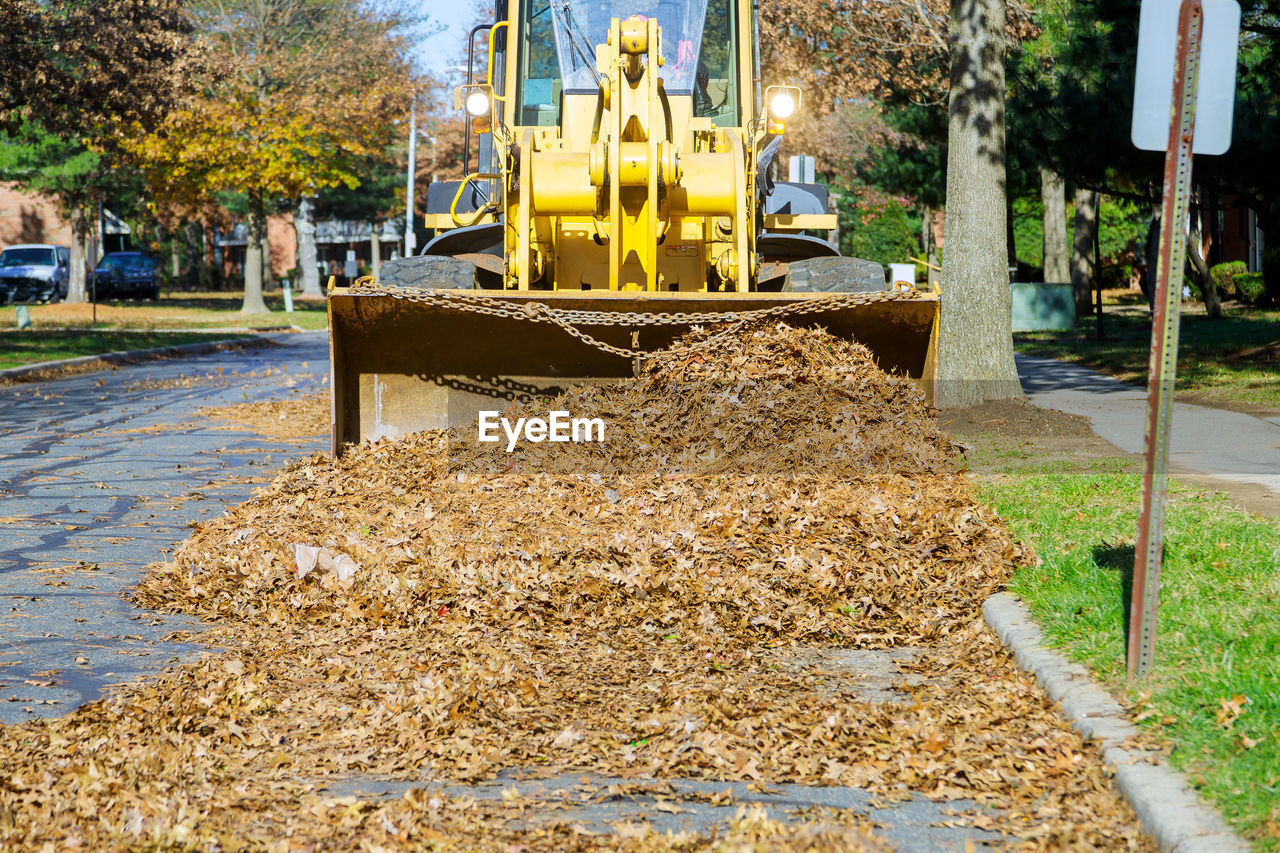
POLYGON ((987 625, 1014 653, 1018 665, 1059 703, 1071 727, 1097 740, 1103 760, 1115 768, 1116 785, 1147 833, 1169 853, 1234 853, 1248 850, 1215 809, 1161 760, 1124 747, 1138 729, 1124 708, 1093 683, 1088 670, 1044 648, 1044 634, 1015 596, 996 593, 982 606, 987 625))

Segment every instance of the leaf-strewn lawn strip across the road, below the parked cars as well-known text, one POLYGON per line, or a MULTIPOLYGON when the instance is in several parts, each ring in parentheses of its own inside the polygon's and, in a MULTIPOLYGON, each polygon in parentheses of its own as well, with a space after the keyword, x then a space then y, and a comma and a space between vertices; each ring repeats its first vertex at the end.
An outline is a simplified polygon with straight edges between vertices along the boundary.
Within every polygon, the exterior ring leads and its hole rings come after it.
MULTIPOLYGON (((100 302, 96 311, 88 304, 65 302, 35 305, 29 311, 35 329, 287 329, 292 325, 323 329, 328 325, 323 300, 296 298, 292 314, 284 311, 284 297, 279 292, 266 296, 266 306, 270 309, 266 314, 241 314, 241 301, 242 295, 234 292, 165 293, 156 302, 100 302)), ((17 324, 14 306, 0 307, 0 330, 13 329, 17 324)))

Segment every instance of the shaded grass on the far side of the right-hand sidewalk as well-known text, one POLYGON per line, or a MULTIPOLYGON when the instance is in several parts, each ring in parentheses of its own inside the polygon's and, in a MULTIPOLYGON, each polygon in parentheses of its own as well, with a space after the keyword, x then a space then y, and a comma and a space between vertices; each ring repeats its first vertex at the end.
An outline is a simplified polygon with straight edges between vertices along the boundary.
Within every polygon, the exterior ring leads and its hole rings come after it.
MULTIPOLYGON (((1126 382, 1146 383, 1151 352, 1151 318, 1108 313, 1105 338, 1094 337, 1093 318, 1070 332, 1014 336, 1019 352, 1048 356, 1102 370, 1126 382)), ((1231 307, 1221 320, 1184 314, 1179 333, 1178 389, 1219 405, 1280 409, 1280 365, 1228 359, 1242 350, 1280 339, 1280 311, 1231 307)))

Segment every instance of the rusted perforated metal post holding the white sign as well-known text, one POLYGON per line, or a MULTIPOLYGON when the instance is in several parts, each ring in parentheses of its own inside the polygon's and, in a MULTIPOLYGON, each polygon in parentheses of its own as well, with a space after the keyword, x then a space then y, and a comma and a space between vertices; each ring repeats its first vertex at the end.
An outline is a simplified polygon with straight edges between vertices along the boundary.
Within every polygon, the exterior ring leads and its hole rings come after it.
POLYGON ((1187 218, 1192 190, 1192 143, 1196 138, 1196 90, 1199 78, 1204 9, 1201 0, 1183 0, 1178 18, 1178 60, 1174 105, 1165 151, 1165 191, 1160 219, 1160 261, 1156 266, 1155 316, 1147 386, 1146 467, 1142 475, 1142 519, 1134 548, 1129 611, 1129 679, 1140 679, 1156 656, 1156 613, 1160 569, 1165 551, 1165 503, 1169 485, 1169 432, 1178 373, 1178 310, 1181 272, 1187 263, 1187 218))

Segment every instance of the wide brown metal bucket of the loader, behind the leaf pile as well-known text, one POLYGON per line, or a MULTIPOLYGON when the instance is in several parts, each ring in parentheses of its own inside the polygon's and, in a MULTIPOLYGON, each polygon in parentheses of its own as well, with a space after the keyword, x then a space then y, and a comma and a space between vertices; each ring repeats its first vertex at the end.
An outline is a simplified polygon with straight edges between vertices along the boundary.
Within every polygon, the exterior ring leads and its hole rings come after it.
MULTIPOLYGON (((861 342, 882 369, 910 377, 932 398, 937 295, 864 296, 884 298, 822 310, 822 301, 832 296, 334 288, 329 296, 333 453, 337 456, 344 444, 366 439, 475 424, 481 410, 502 410, 517 398, 550 396, 584 382, 632 377, 630 357, 603 351, 561 325, 531 321, 522 314, 540 306, 604 313, 607 319, 632 313, 721 314, 794 305, 787 323, 820 325, 832 334, 861 342), (434 298, 415 298, 424 296, 434 298), (486 305, 498 306, 498 315, 476 310, 486 305)), ((690 324, 593 321, 575 328, 616 347, 653 351, 687 332, 690 324)))

